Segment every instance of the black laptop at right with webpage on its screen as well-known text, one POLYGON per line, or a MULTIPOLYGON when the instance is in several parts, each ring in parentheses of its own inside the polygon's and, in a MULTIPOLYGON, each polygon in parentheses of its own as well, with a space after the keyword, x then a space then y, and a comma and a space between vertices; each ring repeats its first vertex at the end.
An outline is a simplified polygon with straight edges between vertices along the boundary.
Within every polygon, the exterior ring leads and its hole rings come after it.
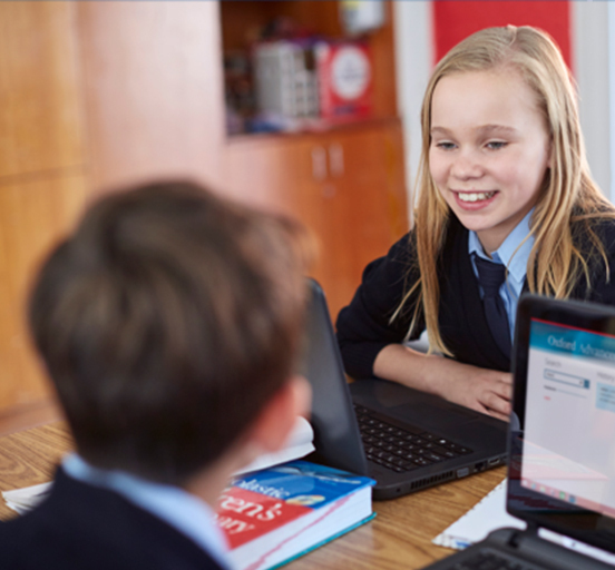
POLYGON ((527 530, 497 530, 429 569, 612 569, 615 308, 523 297, 514 353, 507 510, 527 530))

